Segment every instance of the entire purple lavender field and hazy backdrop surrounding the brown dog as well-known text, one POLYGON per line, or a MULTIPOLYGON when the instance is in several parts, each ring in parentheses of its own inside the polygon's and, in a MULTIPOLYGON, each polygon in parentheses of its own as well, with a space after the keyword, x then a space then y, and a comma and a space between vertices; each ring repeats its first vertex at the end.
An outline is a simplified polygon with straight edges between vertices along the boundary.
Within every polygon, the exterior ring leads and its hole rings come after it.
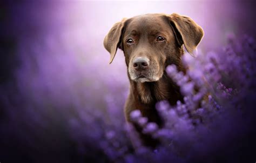
POLYGON ((248 21, 255 3, 147 2, 146 9, 145 3, 0 6, 0 162, 256 161, 256 32, 248 21), (113 23, 148 12, 184 13, 205 31, 198 55, 183 56, 187 74, 166 67, 184 103, 156 105, 164 127, 131 113, 160 140, 154 150, 125 123, 123 52, 108 65, 103 47, 113 23))

